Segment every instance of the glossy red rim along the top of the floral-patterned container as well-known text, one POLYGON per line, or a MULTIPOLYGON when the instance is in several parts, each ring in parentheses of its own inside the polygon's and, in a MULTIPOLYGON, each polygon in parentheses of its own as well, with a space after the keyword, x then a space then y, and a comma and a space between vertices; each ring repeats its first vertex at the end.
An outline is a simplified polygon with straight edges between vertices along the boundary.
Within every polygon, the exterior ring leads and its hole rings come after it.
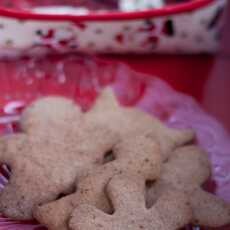
POLYGON ((58 15, 58 14, 41 14, 29 10, 17 10, 0 7, 0 15, 5 17, 16 18, 20 20, 69 20, 69 21, 113 21, 113 20, 135 20, 157 16, 168 16, 197 10, 206 7, 218 0, 199 0, 177 5, 168 5, 160 9, 149 9, 134 12, 103 12, 89 13, 87 15, 58 15))

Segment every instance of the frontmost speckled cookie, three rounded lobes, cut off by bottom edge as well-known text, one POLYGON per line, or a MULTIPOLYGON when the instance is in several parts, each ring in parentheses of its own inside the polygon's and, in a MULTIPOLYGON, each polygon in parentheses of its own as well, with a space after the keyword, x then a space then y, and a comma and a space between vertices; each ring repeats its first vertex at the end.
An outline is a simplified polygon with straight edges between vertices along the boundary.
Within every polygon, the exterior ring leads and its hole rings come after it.
POLYGON ((192 217, 187 196, 174 189, 164 191, 147 209, 145 181, 137 176, 114 176, 107 192, 113 214, 92 205, 79 205, 70 218, 71 230, 176 230, 188 224, 192 217))

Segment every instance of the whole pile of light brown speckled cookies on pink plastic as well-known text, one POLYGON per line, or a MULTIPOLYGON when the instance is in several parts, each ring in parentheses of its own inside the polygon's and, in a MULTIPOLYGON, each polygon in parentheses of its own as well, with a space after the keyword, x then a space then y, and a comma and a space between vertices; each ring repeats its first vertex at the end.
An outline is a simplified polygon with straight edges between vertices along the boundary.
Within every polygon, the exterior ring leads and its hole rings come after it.
POLYGON ((46 97, 22 114, 21 133, 0 139, 11 168, 0 211, 50 230, 176 230, 230 223, 230 204, 207 193, 208 156, 194 132, 171 129, 105 89, 83 113, 46 97))

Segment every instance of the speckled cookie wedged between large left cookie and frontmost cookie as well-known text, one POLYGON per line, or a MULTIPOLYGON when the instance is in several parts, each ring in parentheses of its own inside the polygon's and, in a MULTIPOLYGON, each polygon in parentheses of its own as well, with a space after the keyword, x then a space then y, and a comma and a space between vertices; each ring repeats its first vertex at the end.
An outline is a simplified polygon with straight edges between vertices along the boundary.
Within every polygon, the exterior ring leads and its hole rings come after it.
POLYGON ((79 181, 76 193, 35 209, 35 218, 50 230, 67 230, 69 217, 79 204, 87 203, 105 212, 112 211, 104 189, 114 175, 133 173, 144 181, 154 180, 160 174, 159 144, 146 136, 126 137, 114 146, 113 155, 113 161, 100 166, 79 181))

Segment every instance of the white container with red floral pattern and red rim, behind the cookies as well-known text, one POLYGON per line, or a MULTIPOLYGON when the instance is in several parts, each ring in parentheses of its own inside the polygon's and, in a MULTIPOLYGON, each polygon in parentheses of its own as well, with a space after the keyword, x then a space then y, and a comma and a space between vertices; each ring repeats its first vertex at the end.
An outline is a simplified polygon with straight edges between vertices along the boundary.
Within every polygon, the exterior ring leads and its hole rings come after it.
POLYGON ((0 7, 0 56, 44 53, 210 53, 226 0, 79 14, 0 7))

